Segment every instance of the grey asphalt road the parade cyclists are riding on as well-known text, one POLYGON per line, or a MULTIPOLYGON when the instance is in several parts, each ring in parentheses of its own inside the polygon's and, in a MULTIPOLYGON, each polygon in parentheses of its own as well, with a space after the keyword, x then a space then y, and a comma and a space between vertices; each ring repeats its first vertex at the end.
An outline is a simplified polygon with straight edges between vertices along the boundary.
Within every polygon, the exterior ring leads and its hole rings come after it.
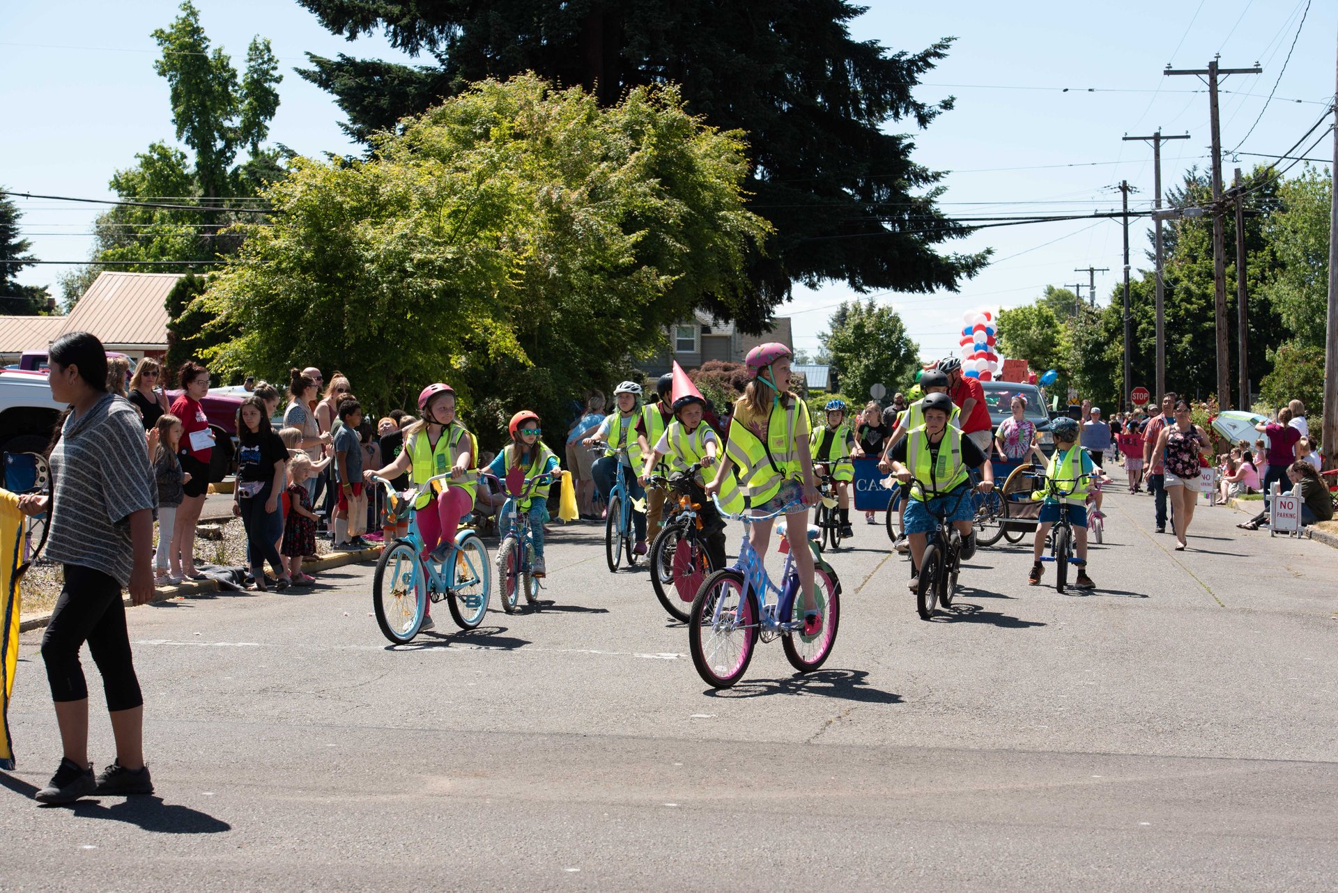
POLYGON ((367 567, 135 608, 158 795, 72 809, 27 799, 59 758, 27 635, 0 889, 1333 889, 1338 552, 1107 508, 1101 588, 982 549, 935 622, 858 525, 827 666, 763 646, 721 694, 593 525, 543 612, 403 648, 367 567))

